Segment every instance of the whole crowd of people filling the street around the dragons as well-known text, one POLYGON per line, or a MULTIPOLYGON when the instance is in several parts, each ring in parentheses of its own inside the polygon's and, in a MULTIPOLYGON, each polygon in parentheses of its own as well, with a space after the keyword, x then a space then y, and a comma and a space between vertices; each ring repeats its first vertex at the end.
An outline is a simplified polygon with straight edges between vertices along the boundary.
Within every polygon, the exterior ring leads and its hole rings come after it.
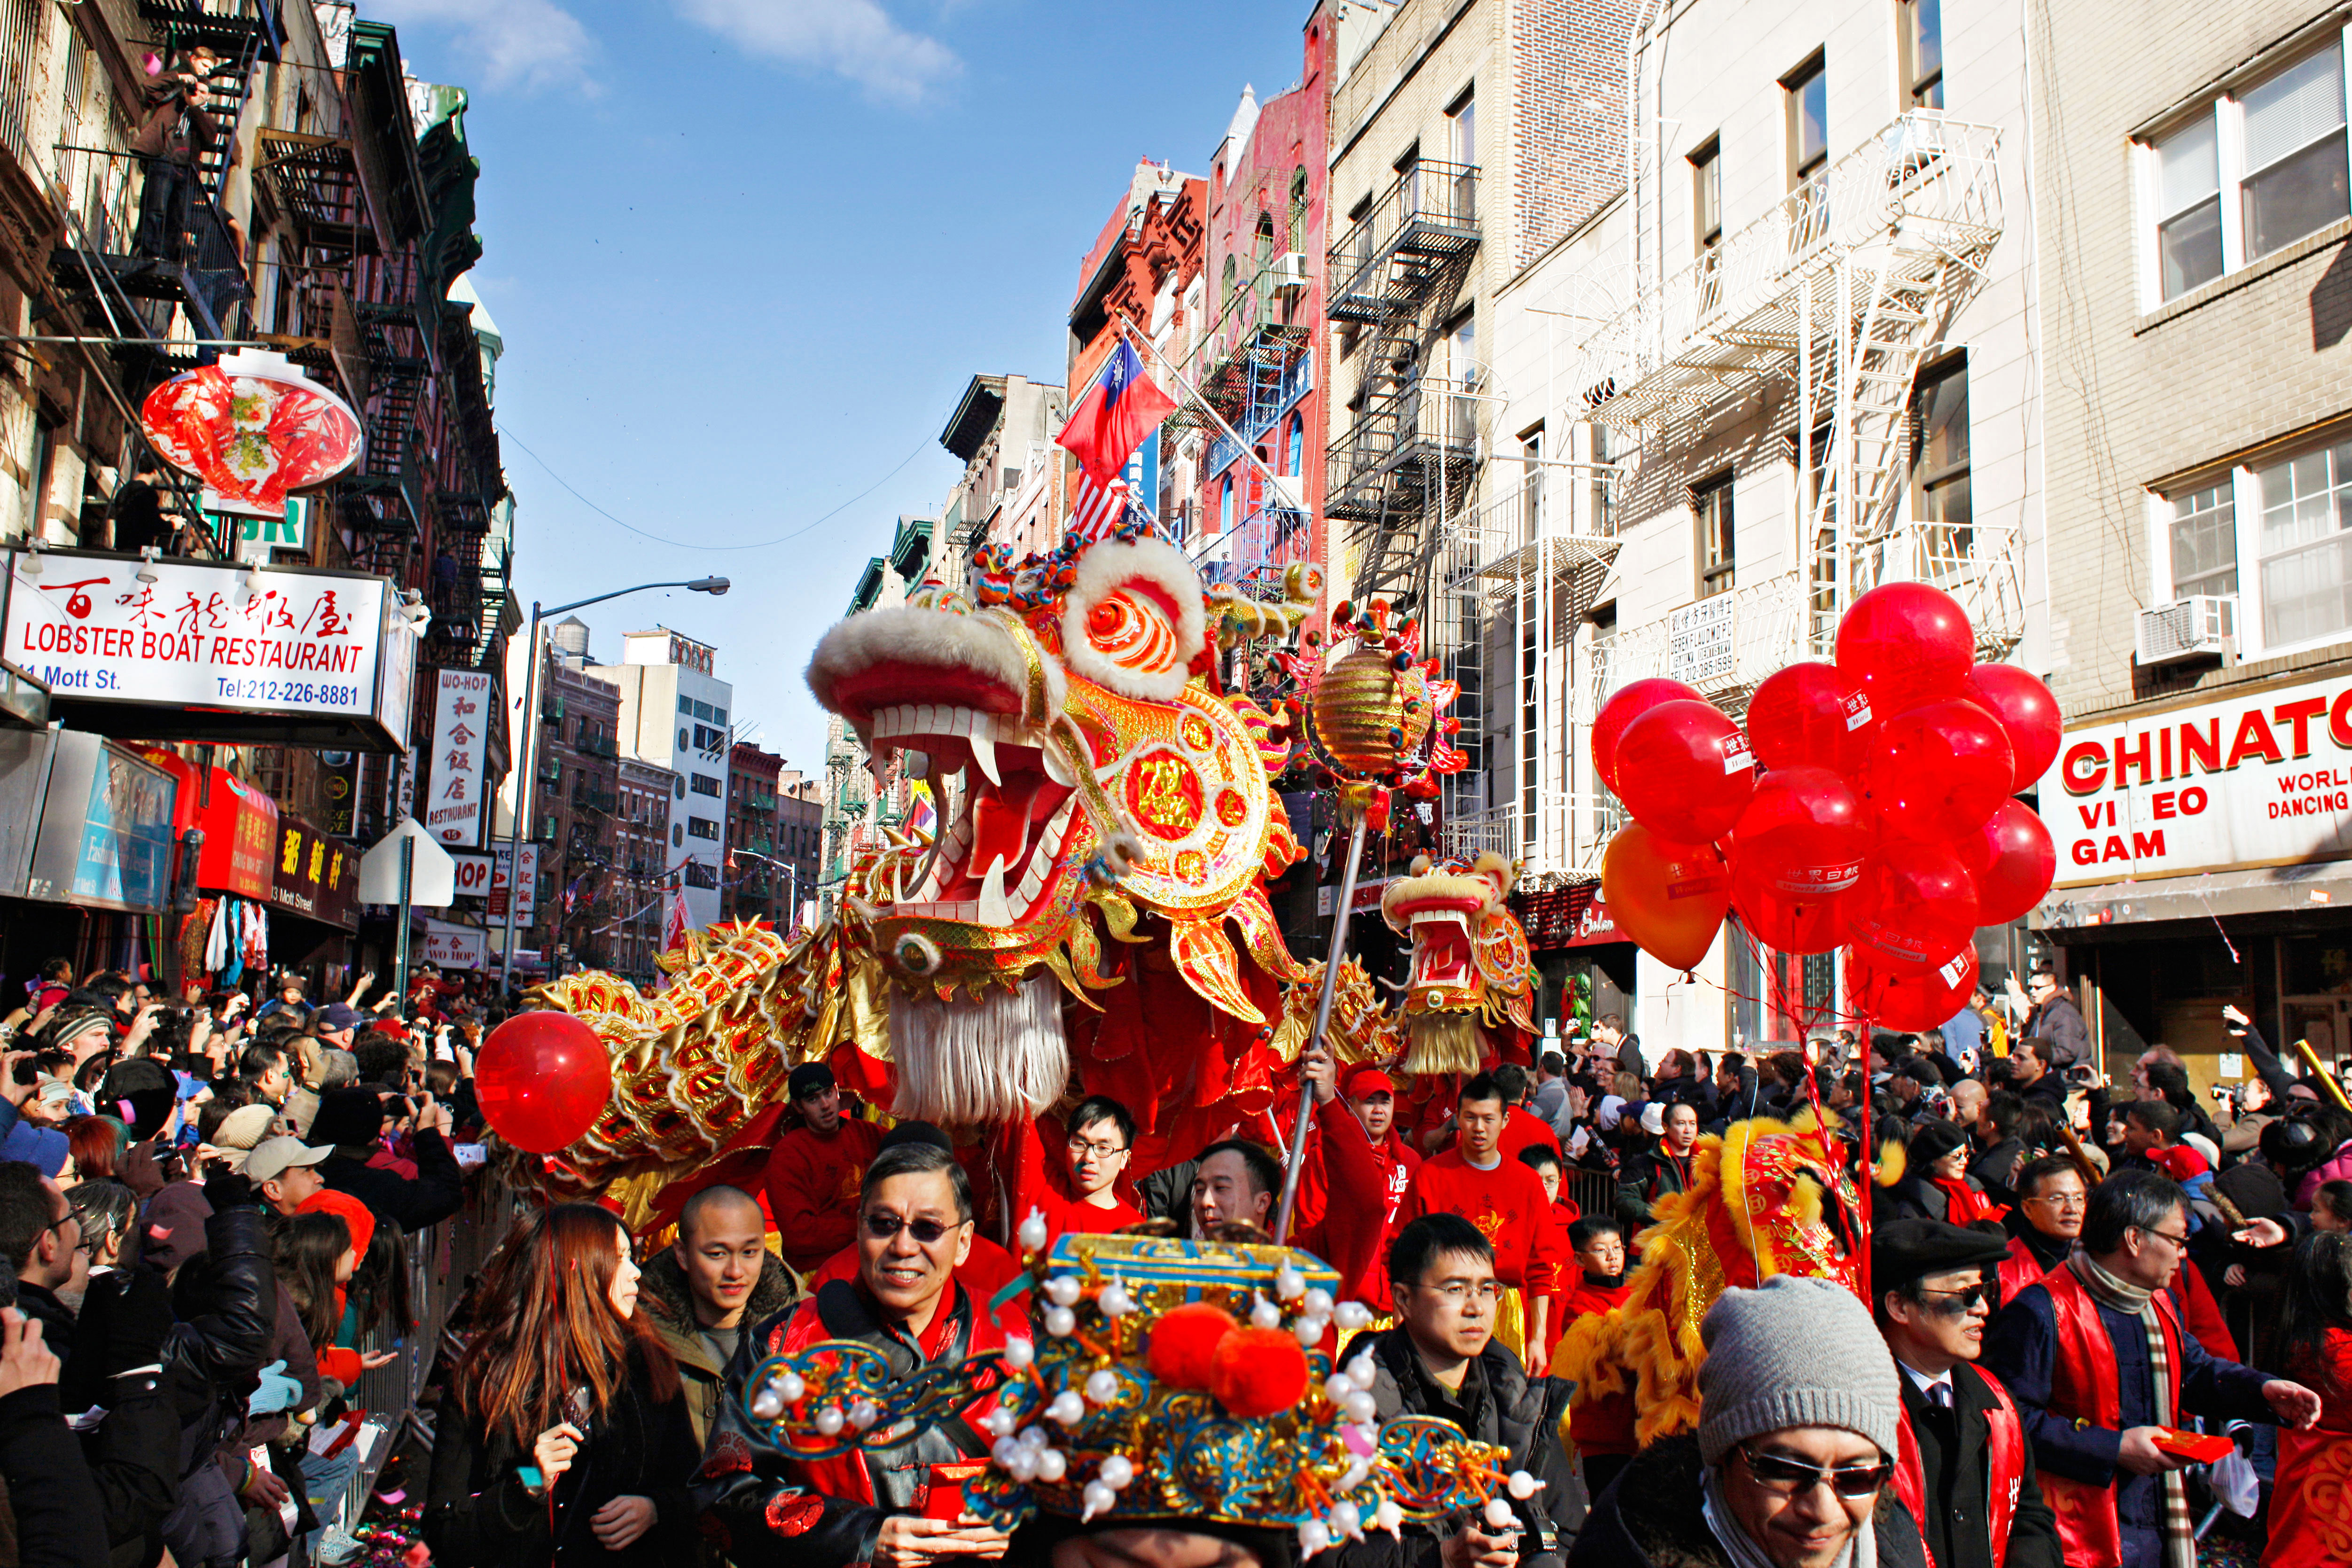
MULTIPOLYGON (((172 1011, 122 976, 45 976, 5 1025, 19 1561, 350 1554, 322 1521, 353 1458, 308 1434, 367 1375, 369 1331, 409 1326, 402 1237, 463 1204, 480 1121, 477 1018, 365 990, 172 1011)), ((753 1413, 753 1366, 816 1342, 908 1380, 1035 1340, 1056 1305, 1021 1258, 1145 1227, 1287 1229, 1369 1307, 1329 1347, 1369 1418, 1442 1418, 1543 1481, 1331 1542, 1327 1568, 2180 1568, 2220 1512, 2246 1561, 2345 1561, 2352 1114, 2234 1013, 2256 1077, 2206 1107, 2161 1046, 2105 1081, 2053 976, 2006 1001, 1712 1058, 1599 1018, 1449 1079, 1317 1053, 1303 1138, 1277 1107, 1148 1171, 1110 1098, 974 1140, 800 1065, 764 1171, 694 1190, 659 1246, 607 1206, 534 1206, 468 1281, 430 1378, 423 1544, 452 1568, 1294 1563, 1289 1533, 1007 1535, 941 1507, 941 1474, 990 1460, 978 1406, 814 1460, 753 1413), (1710 1131, 1816 1105, 1870 1208, 1870 1300, 1792 1274, 1724 1291, 1696 1429, 1630 1441, 1637 1396, 1573 1401, 1562 1335, 1625 1300, 1710 1131)))

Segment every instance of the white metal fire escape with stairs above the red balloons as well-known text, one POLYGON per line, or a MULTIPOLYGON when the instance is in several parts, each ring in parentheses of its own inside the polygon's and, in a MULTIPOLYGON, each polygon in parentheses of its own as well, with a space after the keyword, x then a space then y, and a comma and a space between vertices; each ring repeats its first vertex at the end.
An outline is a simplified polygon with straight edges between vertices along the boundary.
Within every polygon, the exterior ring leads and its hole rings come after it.
POLYGON ((1738 705, 1795 658, 1828 656, 1844 607, 1889 581, 1936 583, 1997 658, 2023 635, 2023 531, 1912 520, 1900 505, 1919 362, 1983 282, 2002 237, 1999 132, 1915 110, 1792 190, 1602 327, 1578 386, 1588 418, 1635 430, 1795 386, 1804 562, 1618 630, 1583 682, 1599 696, 1670 675, 1738 705))

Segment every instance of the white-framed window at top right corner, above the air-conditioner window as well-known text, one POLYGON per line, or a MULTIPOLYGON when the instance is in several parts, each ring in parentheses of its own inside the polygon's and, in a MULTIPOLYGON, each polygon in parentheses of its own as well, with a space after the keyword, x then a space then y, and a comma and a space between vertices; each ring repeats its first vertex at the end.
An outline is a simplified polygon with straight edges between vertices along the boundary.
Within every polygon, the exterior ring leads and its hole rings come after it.
POLYGON ((2145 181, 2154 303, 2352 214, 2343 38, 2150 139, 2145 181))

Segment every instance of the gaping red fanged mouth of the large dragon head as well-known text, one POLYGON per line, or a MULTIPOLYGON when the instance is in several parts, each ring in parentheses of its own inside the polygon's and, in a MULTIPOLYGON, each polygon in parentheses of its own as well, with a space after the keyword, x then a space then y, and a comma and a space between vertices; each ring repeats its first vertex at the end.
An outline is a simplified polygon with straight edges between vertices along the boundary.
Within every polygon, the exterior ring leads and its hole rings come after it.
POLYGON ((950 703, 875 708, 868 743, 877 762, 906 755, 943 823, 931 853, 889 889, 889 914, 1025 924, 1054 884, 1077 809, 1065 759, 1016 715, 950 703))

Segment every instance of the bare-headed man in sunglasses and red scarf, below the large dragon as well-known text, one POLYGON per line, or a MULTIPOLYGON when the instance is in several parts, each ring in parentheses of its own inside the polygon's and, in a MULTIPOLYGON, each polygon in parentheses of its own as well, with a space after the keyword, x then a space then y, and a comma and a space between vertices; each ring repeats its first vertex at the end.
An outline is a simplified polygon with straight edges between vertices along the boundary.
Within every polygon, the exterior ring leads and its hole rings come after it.
POLYGON ((710 1422, 694 1500, 717 1526, 736 1568, 927 1568, 950 1559, 1004 1556, 1007 1535, 957 1514, 943 1495, 988 1460, 981 1425, 995 1399, 981 1396, 948 1420, 896 1443, 866 1443, 837 1460, 800 1460, 753 1432, 743 1380, 767 1356, 790 1356, 821 1340, 856 1340, 903 1382, 938 1366, 1004 1349, 1028 1338, 1018 1305, 990 1314, 988 1300, 955 1279, 971 1253, 971 1178, 934 1143, 898 1143, 866 1168, 849 1208, 858 1232, 856 1279, 753 1328, 727 1368, 727 1392, 710 1422))

